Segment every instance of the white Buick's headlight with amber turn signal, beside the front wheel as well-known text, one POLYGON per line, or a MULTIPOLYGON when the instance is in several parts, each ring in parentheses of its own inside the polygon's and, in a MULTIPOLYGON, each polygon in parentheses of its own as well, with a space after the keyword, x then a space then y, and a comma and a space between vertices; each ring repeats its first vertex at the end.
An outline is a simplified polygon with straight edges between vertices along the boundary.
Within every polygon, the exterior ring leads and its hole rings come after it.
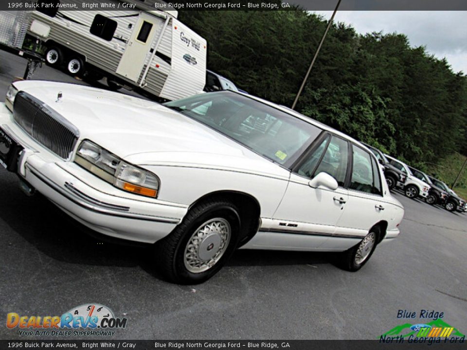
POLYGON ((157 175, 125 162, 94 142, 81 142, 74 161, 124 191, 157 197, 160 185, 157 175))

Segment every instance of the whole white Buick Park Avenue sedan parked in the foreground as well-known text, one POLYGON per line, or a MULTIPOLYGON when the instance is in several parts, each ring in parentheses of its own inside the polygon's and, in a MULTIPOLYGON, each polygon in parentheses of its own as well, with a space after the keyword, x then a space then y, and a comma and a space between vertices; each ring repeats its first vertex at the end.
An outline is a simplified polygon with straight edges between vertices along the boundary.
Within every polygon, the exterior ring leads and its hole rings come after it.
POLYGON ((357 271, 404 214, 365 146, 232 91, 160 105, 16 82, 0 104, 0 161, 87 227, 153 244, 178 283, 209 279, 236 248, 339 252, 357 271))

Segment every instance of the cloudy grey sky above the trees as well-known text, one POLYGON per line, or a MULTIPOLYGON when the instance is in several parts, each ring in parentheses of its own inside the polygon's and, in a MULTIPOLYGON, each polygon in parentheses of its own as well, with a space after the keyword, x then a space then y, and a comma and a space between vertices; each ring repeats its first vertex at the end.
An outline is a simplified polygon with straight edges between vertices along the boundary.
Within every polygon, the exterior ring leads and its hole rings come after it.
MULTIPOLYGON (((329 19, 332 11, 316 11, 329 19)), ((335 21, 351 24, 358 33, 401 33, 412 46, 448 59, 452 70, 467 74, 467 11, 338 11, 335 21)))

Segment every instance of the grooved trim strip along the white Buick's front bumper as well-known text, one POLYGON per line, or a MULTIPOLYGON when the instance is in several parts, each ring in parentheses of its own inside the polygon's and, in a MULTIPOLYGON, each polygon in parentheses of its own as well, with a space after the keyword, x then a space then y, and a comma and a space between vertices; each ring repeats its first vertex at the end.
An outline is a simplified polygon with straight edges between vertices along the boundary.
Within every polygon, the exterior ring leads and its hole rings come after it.
POLYGON ((178 224, 180 222, 180 220, 177 218, 133 213, 129 211, 129 207, 116 206, 113 204, 101 202, 77 190, 69 182, 65 183, 65 187, 68 190, 65 191, 64 189, 60 188, 57 184, 55 184, 52 180, 47 178, 47 176, 41 174, 38 170, 34 169, 31 165, 26 164, 26 168, 31 172, 32 175, 36 176, 36 178, 38 178, 40 181, 52 188, 55 192, 58 192, 74 204, 87 210, 103 215, 123 217, 127 219, 154 221, 168 224, 178 224))

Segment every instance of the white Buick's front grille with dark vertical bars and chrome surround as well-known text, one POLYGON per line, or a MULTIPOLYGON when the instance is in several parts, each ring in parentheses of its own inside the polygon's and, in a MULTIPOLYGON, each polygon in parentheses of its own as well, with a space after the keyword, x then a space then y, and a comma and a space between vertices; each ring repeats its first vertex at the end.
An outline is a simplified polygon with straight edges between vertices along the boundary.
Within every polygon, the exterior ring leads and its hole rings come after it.
POLYGON ((48 105, 19 91, 15 98, 13 118, 34 140, 69 159, 79 137, 79 130, 48 105))

